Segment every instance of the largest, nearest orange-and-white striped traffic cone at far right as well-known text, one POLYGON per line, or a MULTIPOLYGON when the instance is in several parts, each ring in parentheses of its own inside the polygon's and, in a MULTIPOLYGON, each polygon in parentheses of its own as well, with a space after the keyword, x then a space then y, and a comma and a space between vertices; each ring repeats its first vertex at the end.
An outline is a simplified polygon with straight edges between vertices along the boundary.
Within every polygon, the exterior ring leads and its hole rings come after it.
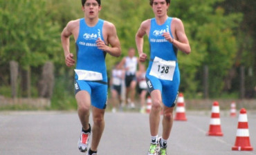
POLYGON ((240 110, 237 125, 237 138, 235 140, 235 146, 232 147, 232 150, 253 151, 253 147, 250 146, 248 120, 246 109, 244 108, 240 110))

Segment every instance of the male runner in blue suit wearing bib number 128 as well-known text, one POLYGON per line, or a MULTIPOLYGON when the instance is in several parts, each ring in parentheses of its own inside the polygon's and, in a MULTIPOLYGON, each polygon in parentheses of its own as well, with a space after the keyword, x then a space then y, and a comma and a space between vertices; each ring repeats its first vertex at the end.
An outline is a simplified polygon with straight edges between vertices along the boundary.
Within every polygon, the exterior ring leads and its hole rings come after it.
POLYGON ((148 91, 152 97, 152 110, 149 114, 152 141, 147 154, 165 155, 180 83, 177 49, 186 54, 190 54, 191 51, 182 21, 167 16, 170 0, 149 0, 149 4, 152 6, 155 17, 143 21, 136 34, 136 46, 141 62, 147 59, 147 54, 143 52, 145 34, 150 44, 150 61, 146 79, 148 91), (162 108, 163 135, 158 138, 162 108))

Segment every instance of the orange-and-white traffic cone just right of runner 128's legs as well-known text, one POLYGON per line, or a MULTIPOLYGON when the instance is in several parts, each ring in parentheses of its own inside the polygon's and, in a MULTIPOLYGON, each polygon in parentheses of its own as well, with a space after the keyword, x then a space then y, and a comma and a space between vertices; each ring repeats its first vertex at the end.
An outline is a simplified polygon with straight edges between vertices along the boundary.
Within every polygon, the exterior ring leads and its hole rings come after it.
POLYGON ((176 107, 176 115, 174 118, 175 121, 187 121, 185 116, 185 103, 184 97, 182 93, 179 93, 177 107, 176 107))

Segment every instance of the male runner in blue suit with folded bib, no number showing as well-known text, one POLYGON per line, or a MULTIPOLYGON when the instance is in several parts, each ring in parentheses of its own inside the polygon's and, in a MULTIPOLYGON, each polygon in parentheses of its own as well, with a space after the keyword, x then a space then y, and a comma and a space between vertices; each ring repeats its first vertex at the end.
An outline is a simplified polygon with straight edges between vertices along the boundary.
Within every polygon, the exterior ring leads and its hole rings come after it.
POLYGON ((84 18, 69 21, 62 31, 62 47, 68 67, 75 65, 75 99, 82 123, 78 148, 96 155, 104 130, 104 111, 107 103, 106 54, 120 56, 120 41, 113 23, 99 19, 100 0, 82 0, 84 18), (75 39, 77 61, 69 50, 69 38, 75 39), (108 46, 111 45, 111 46, 108 46), (90 107, 93 126, 89 124, 90 107), (89 137, 92 132, 91 147, 89 137))

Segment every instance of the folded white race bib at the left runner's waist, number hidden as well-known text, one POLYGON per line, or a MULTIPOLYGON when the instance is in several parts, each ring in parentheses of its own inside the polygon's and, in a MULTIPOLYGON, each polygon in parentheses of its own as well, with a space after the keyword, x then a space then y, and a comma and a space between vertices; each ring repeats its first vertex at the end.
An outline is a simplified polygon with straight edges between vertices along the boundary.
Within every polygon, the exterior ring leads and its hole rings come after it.
POLYGON ((78 76, 78 80, 101 81, 103 79, 100 72, 93 72, 89 70, 75 70, 75 73, 78 76))

